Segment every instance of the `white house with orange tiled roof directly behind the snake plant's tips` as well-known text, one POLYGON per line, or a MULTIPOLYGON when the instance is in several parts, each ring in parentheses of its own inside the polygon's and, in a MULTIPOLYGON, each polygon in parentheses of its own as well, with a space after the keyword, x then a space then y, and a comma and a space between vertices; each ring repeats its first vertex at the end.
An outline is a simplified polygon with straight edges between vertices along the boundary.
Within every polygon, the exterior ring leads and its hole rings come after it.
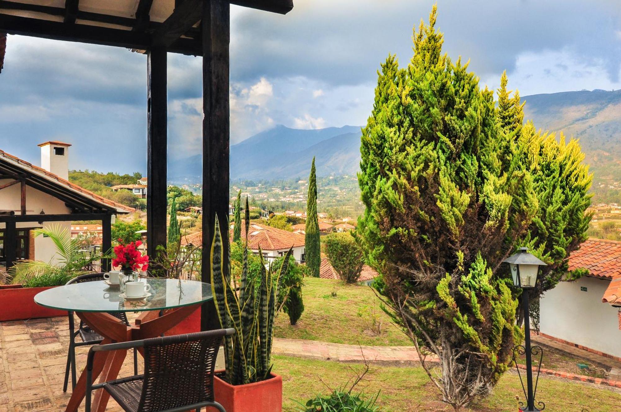
MULTIPOLYGON (((233 229, 229 231, 230 241, 233 241, 233 229)), ((242 230, 242 241, 245 242, 246 234, 242 230)), ((190 233, 181 238, 181 245, 186 246, 193 244, 194 246, 202 244, 202 233, 200 231, 190 233)), ((293 233, 287 230, 273 228, 271 226, 260 225, 258 223, 250 223, 248 230, 248 249, 258 254, 259 250, 263 254, 263 258, 267 261, 273 261, 279 256, 293 249, 293 257, 298 263, 304 263, 304 235, 293 233)))

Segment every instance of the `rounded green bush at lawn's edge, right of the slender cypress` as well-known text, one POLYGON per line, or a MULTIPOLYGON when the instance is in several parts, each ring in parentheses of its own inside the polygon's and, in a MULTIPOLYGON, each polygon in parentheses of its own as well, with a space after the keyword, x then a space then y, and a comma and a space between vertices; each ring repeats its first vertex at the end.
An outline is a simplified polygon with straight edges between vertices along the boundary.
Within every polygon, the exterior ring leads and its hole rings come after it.
POLYGON ((365 260, 362 249, 350 233, 331 233, 322 243, 338 277, 345 283, 358 282, 365 260))

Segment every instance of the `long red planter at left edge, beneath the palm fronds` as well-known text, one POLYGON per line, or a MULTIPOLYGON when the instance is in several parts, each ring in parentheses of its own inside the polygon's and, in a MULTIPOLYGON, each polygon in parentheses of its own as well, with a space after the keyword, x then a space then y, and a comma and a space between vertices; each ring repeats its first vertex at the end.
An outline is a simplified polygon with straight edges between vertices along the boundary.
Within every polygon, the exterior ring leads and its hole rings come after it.
POLYGON ((0 321, 66 316, 66 311, 44 308, 34 301, 37 293, 52 287, 0 285, 0 321))

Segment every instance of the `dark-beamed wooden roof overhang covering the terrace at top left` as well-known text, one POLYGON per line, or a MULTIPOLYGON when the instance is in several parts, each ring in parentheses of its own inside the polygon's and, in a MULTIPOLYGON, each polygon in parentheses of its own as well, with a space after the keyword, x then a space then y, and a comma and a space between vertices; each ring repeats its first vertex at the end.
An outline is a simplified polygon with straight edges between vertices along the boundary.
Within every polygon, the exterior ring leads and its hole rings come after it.
MULTIPOLYGON (((165 47, 172 53, 202 55, 199 26, 204 1, 0 0, 0 32, 134 50, 165 47)), ((293 8, 292 0, 230 3, 281 14, 293 8)))

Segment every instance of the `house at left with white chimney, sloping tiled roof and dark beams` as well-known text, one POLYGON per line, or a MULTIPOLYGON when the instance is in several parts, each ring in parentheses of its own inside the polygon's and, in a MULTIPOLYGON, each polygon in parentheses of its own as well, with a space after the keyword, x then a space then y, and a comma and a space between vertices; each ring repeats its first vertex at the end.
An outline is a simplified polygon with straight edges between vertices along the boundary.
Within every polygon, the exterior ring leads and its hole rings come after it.
POLYGON ((98 220, 104 248, 111 246, 115 215, 134 209, 105 199, 68 181, 69 143, 41 143, 41 167, 0 150, 0 266, 18 259, 53 261, 50 238, 34 237, 36 228, 60 226, 71 231, 73 220, 98 220))

